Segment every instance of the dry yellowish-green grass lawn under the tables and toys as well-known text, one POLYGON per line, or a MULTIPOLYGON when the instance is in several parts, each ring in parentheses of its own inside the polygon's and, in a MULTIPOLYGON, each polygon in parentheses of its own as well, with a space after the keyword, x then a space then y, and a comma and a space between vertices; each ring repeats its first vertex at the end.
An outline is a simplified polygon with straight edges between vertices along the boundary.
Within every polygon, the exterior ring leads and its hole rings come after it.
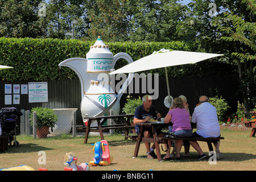
MULTIPOLYGON (((124 140, 122 135, 107 135, 110 155, 113 162, 110 166, 91 167, 91 171, 154 171, 165 170, 196 170, 196 171, 233 171, 233 170, 256 170, 256 138, 249 137, 250 131, 222 130, 220 150, 223 159, 217 160, 216 164, 209 164, 209 157, 204 160, 196 160, 197 152, 191 147, 191 157, 183 157, 181 160, 169 160, 162 163, 157 159, 146 159, 146 148, 141 144, 138 157, 133 159, 135 142, 124 140)), ((48 171, 63 171, 64 156, 67 152, 77 155, 77 164, 89 163, 94 156, 91 143, 100 141, 100 137, 89 137, 88 143, 84 144, 84 137, 48 137, 46 139, 33 139, 32 137, 17 136, 19 147, 10 146, 7 151, 0 154, 0 169, 26 164, 38 171, 38 168, 47 168, 48 171), (46 154, 46 164, 40 164, 40 151, 46 154)), ((206 142, 199 142, 201 148, 208 155, 206 142)), ((160 146, 161 148, 161 146, 160 146)), ((162 157, 165 152, 161 150, 162 157)), ((181 155, 184 148, 181 148, 181 155)))

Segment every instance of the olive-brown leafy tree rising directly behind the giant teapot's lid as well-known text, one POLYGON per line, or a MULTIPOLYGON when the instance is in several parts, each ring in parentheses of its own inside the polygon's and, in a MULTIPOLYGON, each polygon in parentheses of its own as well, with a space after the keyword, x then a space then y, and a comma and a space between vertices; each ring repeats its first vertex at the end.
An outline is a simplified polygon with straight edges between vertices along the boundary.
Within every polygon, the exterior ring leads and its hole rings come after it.
POLYGON ((90 23, 89 37, 86 39, 95 40, 101 36, 105 41, 127 40, 131 16, 127 11, 129 7, 133 7, 133 0, 86 1, 85 8, 90 23))

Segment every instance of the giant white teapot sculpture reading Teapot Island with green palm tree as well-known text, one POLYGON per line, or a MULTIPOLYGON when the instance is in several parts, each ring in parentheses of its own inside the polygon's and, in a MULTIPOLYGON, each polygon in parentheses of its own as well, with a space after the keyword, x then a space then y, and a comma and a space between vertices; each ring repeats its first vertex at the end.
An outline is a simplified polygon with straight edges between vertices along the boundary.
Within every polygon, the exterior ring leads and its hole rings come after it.
MULTIPOLYGON (((109 46, 98 37, 96 43, 86 53, 86 59, 74 57, 62 61, 59 66, 71 68, 76 72, 81 84, 81 114, 84 117, 109 115, 110 109, 114 115, 119 114, 119 100, 129 85, 134 74, 130 73, 122 88, 115 94, 110 86, 110 70, 119 59, 132 63, 133 59, 127 53, 117 53, 113 56, 109 46)), ((86 120, 84 119, 86 123, 86 120)))

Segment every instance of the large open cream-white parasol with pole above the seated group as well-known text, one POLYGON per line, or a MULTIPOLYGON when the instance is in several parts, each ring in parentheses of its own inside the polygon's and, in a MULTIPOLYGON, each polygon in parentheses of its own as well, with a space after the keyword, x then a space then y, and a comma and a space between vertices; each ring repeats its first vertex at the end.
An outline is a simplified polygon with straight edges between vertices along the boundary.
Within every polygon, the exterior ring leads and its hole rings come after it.
POLYGON ((117 69, 116 71, 110 72, 109 74, 134 73, 164 67, 166 70, 168 102, 169 104, 171 104, 172 101, 170 96, 167 67, 182 64, 193 64, 217 56, 222 55, 215 53, 174 51, 171 49, 161 49, 158 52, 153 52, 151 55, 142 57, 141 59, 134 61, 133 63, 127 64, 126 66, 117 69))

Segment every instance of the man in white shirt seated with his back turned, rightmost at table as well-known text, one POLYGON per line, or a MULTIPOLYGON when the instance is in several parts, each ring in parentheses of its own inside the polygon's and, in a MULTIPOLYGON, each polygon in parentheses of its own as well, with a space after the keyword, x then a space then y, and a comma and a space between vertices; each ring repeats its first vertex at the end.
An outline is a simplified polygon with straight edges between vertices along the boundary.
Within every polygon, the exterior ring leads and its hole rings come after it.
MULTIPOLYGON (((199 98, 199 106, 194 110, 192 122, 196 123, 197 129, 192 137, 220 137, 220 125, 218 123, 216 108, 209 103, 206 96, 201 96, 199 98)), ((206 157, 197 141, 189 141, 189 143, 197 152, 199 152, 199 157, 197 159, 204 159, 206 157)), ((220 159, 221 152, 218 149, 220 147, 220 141, 213 144, 216 148, 217 159, 220 159)))

